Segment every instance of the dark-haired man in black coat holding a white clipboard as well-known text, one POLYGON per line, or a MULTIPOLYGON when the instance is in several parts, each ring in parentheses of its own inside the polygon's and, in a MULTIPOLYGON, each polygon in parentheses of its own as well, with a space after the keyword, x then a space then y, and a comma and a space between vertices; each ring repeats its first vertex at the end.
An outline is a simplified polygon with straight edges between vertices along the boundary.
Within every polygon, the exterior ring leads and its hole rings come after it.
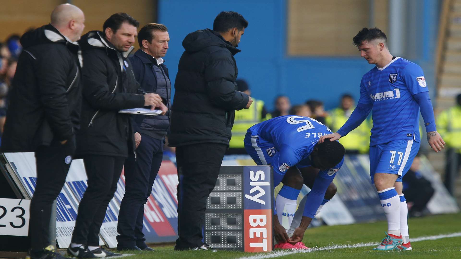
POLYGON ((138 26, 128 14, 116 13, 104 22, 103 32, 90 31, 79 41, 85 65, 76 154, 83 158, 88 188, 67 249, 77 258, 114 255, 98 247, 98 235, 124 160, 135 150, 130 116, 118 111, 143 106, 162 106, 166 111, 157 94, 136 94, 139 84, 126 57, 133 49, 138 26))

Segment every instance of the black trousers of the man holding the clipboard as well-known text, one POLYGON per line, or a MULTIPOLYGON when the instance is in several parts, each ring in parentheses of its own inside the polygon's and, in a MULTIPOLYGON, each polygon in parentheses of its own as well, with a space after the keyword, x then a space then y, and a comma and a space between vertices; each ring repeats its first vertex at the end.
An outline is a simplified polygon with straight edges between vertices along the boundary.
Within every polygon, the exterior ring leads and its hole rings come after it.
POLYGON ((117 190, 124 161, 122 157, 100 155, 83 158, 88 188, 78 206, 71 242, 99 246, 99 230, 106 215, 107 205, 117 190))

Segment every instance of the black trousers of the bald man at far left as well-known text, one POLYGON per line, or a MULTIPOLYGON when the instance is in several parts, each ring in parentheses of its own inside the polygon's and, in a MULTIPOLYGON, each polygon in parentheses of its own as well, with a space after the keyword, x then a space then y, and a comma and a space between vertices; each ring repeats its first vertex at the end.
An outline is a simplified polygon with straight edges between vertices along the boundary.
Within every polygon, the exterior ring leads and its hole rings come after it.
POLYGON ((35 150, 37 185, 30 201, 32 216, 29 222, 30 249, 34 252, 54 245, 49 243, 51 208, 64 186, 74 152, 74 139, 64 145, 53 141, 50 146, 40 146, 35 150))

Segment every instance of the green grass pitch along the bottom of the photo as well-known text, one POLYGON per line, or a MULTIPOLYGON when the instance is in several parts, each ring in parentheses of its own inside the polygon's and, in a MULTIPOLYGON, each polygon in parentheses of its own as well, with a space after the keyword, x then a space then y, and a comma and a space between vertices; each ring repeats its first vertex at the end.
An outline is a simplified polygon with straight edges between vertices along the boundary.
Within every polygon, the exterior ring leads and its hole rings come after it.
MULTIPOLYGON (((436 236, 452 233, 461 233, 461 213, 435 215, 425 218, 409 218, 408 227, 410 230, 410 241, 412 238, 424 236, 436 236)), ((334 245, 355 245, 360 243, 379 242, 384 238, 384 231, 387 229, 386 222, 321 226, 311 228, 304 235, 304 243, 307 247, 327 247, 334 245)), ((357 248, 340 248, 316 250, 310 253, 294 253, 283 256, 273 254, 272 258, 460 258, 461 259, 461 236, 439 238, 436 240, 412 241, 413 251, 372 251, 372 246, 357 248)), ((173 246, 153 247, 155 252, 133 253, 132 256, 124 258, 137 259, 253 259, 267 258, 271 253, 243 253, 236 251, 218 250, 216 253, 210 251, 173 251, 173 246)), ((287 251, 287 250, 284 250, 287 251)), ((275 253, 283 252, 279 249, 275 253)))

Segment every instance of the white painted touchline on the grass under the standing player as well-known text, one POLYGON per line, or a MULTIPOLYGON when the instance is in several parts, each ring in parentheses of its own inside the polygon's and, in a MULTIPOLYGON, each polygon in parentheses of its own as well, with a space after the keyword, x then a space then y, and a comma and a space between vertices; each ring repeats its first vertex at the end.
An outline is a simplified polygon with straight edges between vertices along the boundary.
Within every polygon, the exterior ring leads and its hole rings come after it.
MULTIPOLYGON (((436 240, 436 239, 441 239, 441 238, 458 237, 458 236, 461 236, 461 232, 445 234, 445 235, 420 236, 420 237, 410 238, 410 241, 418 242, 418 241, 436 240)), ((266 259, 266 258, 281 257, 281 256, 290 255, 294 253, 312 253, 315 251, 325 251, 325 250, 333 250, 333 249, 372 247, 372 246, 377 246, 378 244, 379 244, 378 242, 368 242, 368 243, 358 243, 358 244, 353 244, 353 245, 331 245, 331 246, 326 246, 326 247, 315 247, 315 248, 309 248, 309 249, 296 249, 296 250, 292 249, 292 250, 276 251, 272 253, 258 253, 253 256, 240 257, 238 259, 266 259)))

